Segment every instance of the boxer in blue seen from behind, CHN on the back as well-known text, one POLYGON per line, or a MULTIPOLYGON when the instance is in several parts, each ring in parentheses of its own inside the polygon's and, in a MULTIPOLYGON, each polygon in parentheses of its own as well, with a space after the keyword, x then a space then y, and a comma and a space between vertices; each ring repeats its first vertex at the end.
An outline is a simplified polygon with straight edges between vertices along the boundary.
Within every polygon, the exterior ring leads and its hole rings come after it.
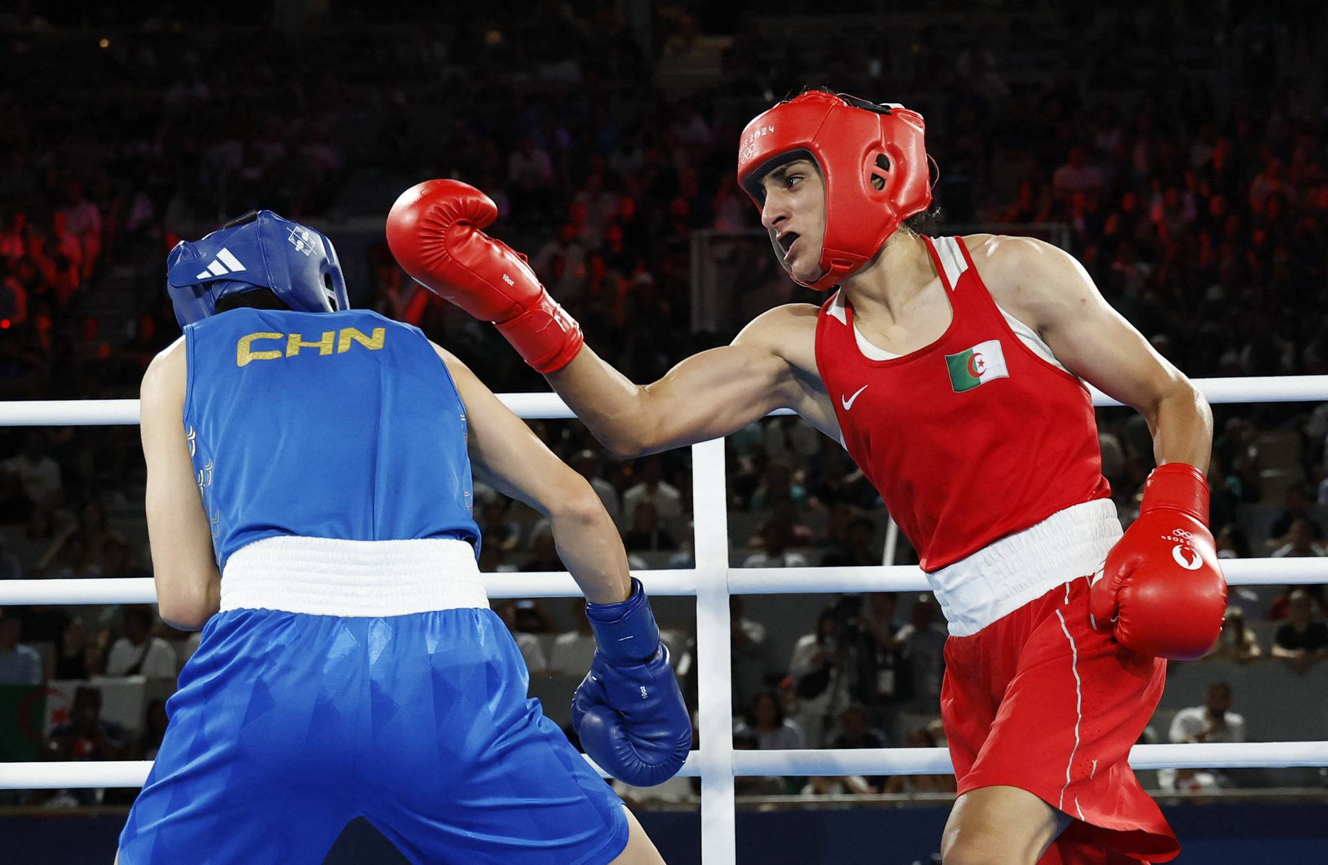
POLYGON ((185 336, 142 385, 161 615, 202 628, 120 865, 316 865, 367 817, 412 861, 661 864, 526 698, 475 565, 471 469, 546 514, 600 650, 574 719, 657 784, 692 727, 590 485, 417 328, 349 310, 270 211, 167 262, 185 336))

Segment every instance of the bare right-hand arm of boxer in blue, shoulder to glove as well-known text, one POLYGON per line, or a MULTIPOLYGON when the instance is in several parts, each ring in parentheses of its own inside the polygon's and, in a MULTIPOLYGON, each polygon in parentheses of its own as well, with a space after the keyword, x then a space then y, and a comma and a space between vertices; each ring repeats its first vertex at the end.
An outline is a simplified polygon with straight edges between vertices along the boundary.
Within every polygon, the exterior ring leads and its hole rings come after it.
POLYGON ((629 594, 627 553, 591 485, 554 456, 463 363, 433 348, 466 405, 473 470, 503 496, 548 518, 558 557, 587 601, 624 601, 629 594))

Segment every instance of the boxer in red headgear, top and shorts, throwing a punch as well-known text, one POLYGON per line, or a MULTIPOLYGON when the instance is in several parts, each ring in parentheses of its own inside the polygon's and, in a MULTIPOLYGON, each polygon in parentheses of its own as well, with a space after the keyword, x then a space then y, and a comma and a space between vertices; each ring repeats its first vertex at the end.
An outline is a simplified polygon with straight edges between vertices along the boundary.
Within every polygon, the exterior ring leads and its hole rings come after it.
POLYGON ((947 865, 1167 861, 1179 844, 1126 763, 1166 659, 1215 642, 1208 405, 1027 238, 915 233, 923 118, 811 90, 756 117, 738 181, 790 276, 831 291, 637 385, 583 344, 456 181, 401 195, 388 240, 416 280, 498 326, 622 456, 791 408, 842 441, 922 557, 950 622, 940 712, 959 797, 947 865), (914 218, 910 222, 910 218, 914 218), (1134 407, 1158 468, 1121 533, 1085 383, 1134 407))

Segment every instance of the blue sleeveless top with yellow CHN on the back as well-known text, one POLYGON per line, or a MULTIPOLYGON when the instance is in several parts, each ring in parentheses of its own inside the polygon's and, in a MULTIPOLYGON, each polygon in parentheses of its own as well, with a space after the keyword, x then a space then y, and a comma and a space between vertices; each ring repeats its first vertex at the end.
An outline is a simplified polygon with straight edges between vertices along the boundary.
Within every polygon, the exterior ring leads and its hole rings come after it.
POLYGON ((459 538, 478 557, 466 409, 418 328, 246 308, 185 341, 185 434, 219 567, 275 535, 459 538))

